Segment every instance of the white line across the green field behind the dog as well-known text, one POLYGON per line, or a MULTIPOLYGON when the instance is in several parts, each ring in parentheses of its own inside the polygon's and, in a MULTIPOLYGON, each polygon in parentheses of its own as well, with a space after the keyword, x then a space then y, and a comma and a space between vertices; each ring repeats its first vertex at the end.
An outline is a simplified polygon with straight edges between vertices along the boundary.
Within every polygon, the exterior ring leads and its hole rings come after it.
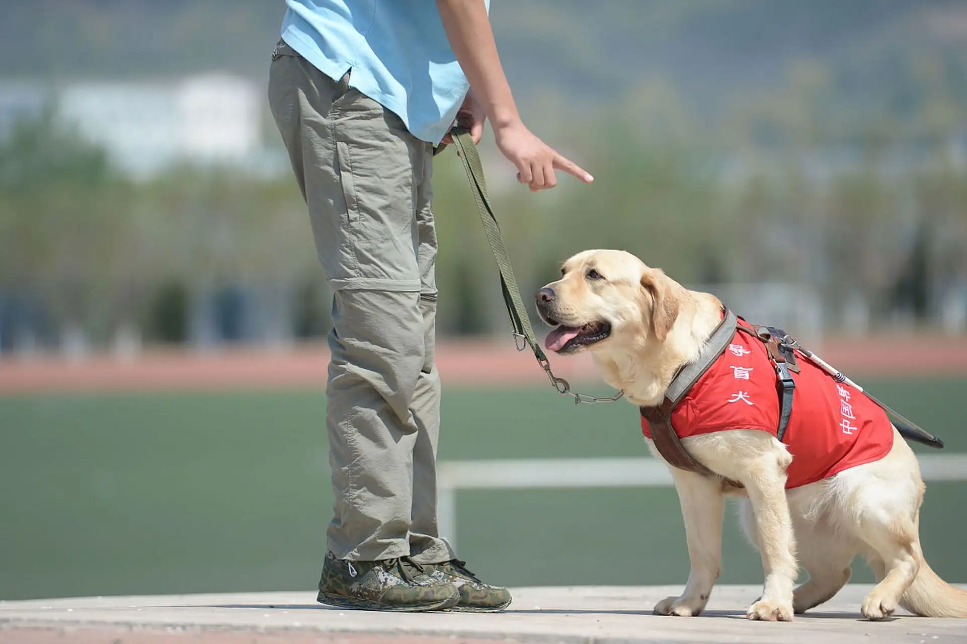
MULTIPOLYGON (((918 454, 925 481, 967 481, 967 454, 918 454)), ((437 465, 440 535, 456 543, 456 490, 667 487, 656 458, 519 458, 441 461, 437 465)))

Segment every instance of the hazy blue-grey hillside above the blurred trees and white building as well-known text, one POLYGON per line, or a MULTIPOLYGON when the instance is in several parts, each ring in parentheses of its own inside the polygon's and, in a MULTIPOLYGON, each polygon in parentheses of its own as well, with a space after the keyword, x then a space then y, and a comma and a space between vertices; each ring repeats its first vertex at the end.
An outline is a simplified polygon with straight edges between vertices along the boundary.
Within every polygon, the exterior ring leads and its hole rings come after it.
MULTIPOLYGON (((429 0, 427 0, 429 1, 429 0)), ((172 76, 218 70, 261 79, 284 7, 266 0, 5 0, 0 77, 172 76)), ((956 0, 494 0, 491 19, 515 93, 601 104, 649 77, 720 115, 781 82, 790 63, 835 69, 856 108, 917 102, 906 62, 962 72, 967 7, 956 0)), ((967 96, 962 78, 952 90, 967 96)))

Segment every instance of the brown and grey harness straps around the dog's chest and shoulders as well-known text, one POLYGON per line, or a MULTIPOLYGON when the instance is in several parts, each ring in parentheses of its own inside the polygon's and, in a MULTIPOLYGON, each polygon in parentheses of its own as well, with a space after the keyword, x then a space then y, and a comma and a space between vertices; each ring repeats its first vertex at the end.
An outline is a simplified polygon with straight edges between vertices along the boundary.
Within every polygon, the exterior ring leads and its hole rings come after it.
POLYGON ((777 394, 779 396, 779 425, 776 436, 781 441, 789 424, 789 417, 792 415, 793 390, 796 389, 791 371, 798 373, 800 369, 796 365, 796 354, 791 348, 793 340, 784 331, 774 327, 754 327, 753 332, 752 329, 738 323, 739 319, 745 321, 744 318, 738 317, 728 308, 724 308, 723 313, 721 322, 718 323, 715 331, 705 342, 698 358, 694 362, 679 368, 675 377, 672 378, 671 384, 665 391, 664 399, 658 405, 643 406, 640 411, 641 415, 648 421, 655 449, 659 451, 662 458, 668 461, 668 464, 703 476, 716 477, 726 485, 741 488, 743 487, 742 483, 716 474, 689 454, 675 432, 675 427, 672 426, 672 411, 698 382, 698 379, 724 353, 732 338, 735 337, 736 331, 741 331, 766 345, 769 360, 776 368, 777 394))

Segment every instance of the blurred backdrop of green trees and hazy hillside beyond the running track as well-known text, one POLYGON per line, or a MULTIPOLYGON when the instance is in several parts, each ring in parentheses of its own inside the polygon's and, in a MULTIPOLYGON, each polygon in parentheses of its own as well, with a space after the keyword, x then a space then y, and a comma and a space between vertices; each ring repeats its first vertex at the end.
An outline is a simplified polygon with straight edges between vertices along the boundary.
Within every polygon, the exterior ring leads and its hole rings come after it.
MULTIPOLYGON (((11 0, 0 78, 215 69, 262 87, 282 12, 11 0)), ((493 0, 491 15, 525 123, 596 176, 531 194, 486 135, 525 295, 572 252, 620 248, 689 284, 812 289, 832 331, 963 333, 967 6, 614 0, 589 14, 571 0, 493 0)), ((267 110, 264 121, 278 148, 267 110)), ((434 172, 440 332, 504 331, 453 150, 434 172)), ((221 336, 245 339, 232 311, 247 293, 288 311, 273 337, 320 337, 329 296, 314 253, 285 166, 132 178, 52 109, 0 138, 0 350, 182 342, 204 336, 197 311, 212 302, 221 336)))

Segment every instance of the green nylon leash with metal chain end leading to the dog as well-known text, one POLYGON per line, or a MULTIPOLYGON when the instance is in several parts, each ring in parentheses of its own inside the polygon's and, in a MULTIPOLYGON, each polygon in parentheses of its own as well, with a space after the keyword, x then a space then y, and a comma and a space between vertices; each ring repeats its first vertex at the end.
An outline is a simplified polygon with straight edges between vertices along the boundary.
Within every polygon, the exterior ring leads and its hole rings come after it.
POLYGON ((531 327, 531 319, 527 314, 523 301, 520 299, 520 290, 517 288, 517 280, 513 277, 511 258, 507 254, 507 247, 504 244, 504 237, 500 232, 500 224, 497 216, 494 215, 493 208, 490 206, 490 198, 486 191, 486 180, 484 179, 484 165, 481 163, 477 145, 470 136, 466 128, 454 128, 451 131, 456 146, 456 155, 463 161, 463 169, 467 172, 467 180, 470 182, 470 191, 474 195, 477 203, 477 210, 480 213, 481 222, 484 224, 484 233, 487 242, 490 243, 490 250, 497 261, 497 268, 500 271, 500 287, 504 296, 504 304, 507 307, 508 315, 511 317, 513 326, 513 338, 518 351, 530 347, 534 352, 534 357, 538 364, 547 374, 551 385, 561 395, 571 395, 574 403, 593 403, 593 402, 613 402, 619 399, 623 392, 616 395, 600 397, 588 394, 578 394, 571 392, 571 385, 564 378, 554 375, 550 368, 550 362, 541 348, 541 343, 534 336, 534 329, 531 327), (523 341, 523 344, 521 344, 523 341))

